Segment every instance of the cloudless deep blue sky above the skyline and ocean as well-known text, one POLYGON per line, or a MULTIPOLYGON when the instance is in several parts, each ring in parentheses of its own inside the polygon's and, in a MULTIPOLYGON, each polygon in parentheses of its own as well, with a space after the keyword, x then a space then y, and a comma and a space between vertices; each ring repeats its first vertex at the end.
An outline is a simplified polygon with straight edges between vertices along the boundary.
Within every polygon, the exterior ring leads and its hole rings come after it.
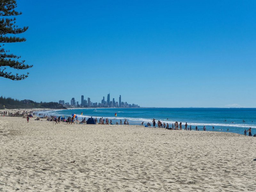
POLYGON ((142 107, 256 107, 254 0, 17 4, 27 41, 5 48, 34 67, 25 80, 1 78, 0 95, 80 103, 110 91, 142 107))

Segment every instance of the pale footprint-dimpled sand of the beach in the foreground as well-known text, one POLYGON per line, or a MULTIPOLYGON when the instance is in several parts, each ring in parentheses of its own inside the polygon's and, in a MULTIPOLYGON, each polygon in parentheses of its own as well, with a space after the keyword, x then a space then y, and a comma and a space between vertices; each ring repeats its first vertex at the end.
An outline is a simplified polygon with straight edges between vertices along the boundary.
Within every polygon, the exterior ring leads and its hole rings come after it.
POLYGON ((255 137, 8 116, 0 122, 0 191, 256 191, 255 137))

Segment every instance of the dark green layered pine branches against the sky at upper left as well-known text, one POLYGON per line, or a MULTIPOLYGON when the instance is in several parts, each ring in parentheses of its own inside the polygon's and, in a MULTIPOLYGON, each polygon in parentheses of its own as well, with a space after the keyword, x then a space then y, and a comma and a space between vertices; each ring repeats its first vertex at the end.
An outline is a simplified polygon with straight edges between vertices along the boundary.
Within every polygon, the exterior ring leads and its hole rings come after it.
MULTIPOLYGON (((16 23, 17 16, 22 14, 14 9, 17 7, 16 0, 0 0, 0 43, 16 43, 24 42, 24 37, 11 36, 12 34, 20 34, 27 31, 28 27, 19 28, 16 23), (8 18, 12 17, 12 18, 8 18)), ((25 60, 19 61, 20 56, 9 53, 9 50, 3 48, 4 44, 0 45, 0 76, 12 80, 22 80, 28 77, 24 74, 13 75, 12 72, 7 72, 5 69, 28 69, 33 65, 26 65, 25 60)))

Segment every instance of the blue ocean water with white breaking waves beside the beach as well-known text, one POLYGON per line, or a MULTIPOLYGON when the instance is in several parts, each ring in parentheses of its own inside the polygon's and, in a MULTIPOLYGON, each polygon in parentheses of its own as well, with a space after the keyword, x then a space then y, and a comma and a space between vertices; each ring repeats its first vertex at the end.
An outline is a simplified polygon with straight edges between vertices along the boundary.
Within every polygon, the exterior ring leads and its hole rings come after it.
POLYGON ((83 117, 100 117, 112 119, 113 123, 119 123, 120 119, 127 119, 129 124, 144 125, 148 122, 152 124, 152 119, 161 120, 162 123, 182 122, 184 128, 185 123, 192 125, 192 130, 197 126, 199 130, 219 131, 244 134, 245 129, 252 128, 252 134, 256 133, 256 108, 81 108, 81 109, 65 109, 45 111, 44 113, 56 116, 78 115, 79 119, 83 117), (117 117, 115 117, 117 113, 117 117), (245 122, 243 122, 243 120, 245 122), (212 129, 214 126, 214 129, 212 129))

